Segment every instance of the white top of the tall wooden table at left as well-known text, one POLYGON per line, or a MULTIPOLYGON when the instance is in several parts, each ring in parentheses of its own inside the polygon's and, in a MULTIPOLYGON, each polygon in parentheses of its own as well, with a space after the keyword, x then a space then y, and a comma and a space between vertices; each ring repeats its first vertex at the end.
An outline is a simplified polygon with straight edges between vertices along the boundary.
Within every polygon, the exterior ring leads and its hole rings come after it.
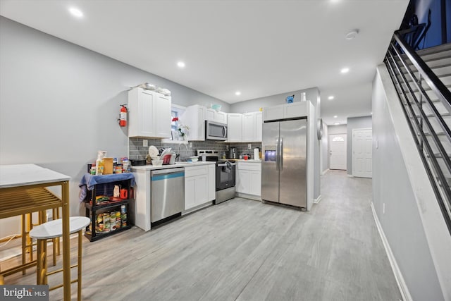
POLYGON ((70 176, 36 164, 0 165, 0 188, 70 180, 70 176))

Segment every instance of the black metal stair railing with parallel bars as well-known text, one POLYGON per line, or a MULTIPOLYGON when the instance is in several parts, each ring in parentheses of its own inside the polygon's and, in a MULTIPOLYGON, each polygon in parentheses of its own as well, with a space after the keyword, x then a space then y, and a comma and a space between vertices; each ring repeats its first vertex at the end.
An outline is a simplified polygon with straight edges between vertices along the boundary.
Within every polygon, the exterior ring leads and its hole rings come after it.
POLYGON ((451 114, 451 92, 414 49, 404 41, 400 32, 395 32, 393 35, 384 63, 400 96, 404 115, 412 131, 421 160, 426 167, 426 173, 431 181, 447 229, 451 234, 451 190, 450 183, 445 177, 446 171, 447 174, 451 174, 451 160, 443 142, 440 141, 440 137, 445 137, 447 143, 451 145, 451 130, 426 90, 430 89, 435 93, 438 101, 447 110, 447 115, 451 114), (409 66, 407 59, 415 70, 409 66), (423 87, 423 83, 426 84, 426 87, 423 87), (424 111, 425 106, 431 109, 432 114, 424 111), (433 128, 431 121, 440 125, 440 132, 433 128), (443 160, 442 166, 440 166, 438 158, 443 160))

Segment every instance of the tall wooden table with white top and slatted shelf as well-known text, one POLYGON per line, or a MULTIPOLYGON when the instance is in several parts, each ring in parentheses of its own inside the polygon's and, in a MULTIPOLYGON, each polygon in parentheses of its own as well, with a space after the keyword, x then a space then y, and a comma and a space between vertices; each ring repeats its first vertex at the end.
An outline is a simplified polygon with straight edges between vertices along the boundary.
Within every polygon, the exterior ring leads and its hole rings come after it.
MULTIPOLYGON (((0 165, 0 219, 62 207, 64 300, 70 300, 69 180, 69 176, 35 164, 0 165), (51 186, 61 186, 61 198, 47 190, 51 186)), ((0 275, 35 264, 22 264, 0 271, 0 275)))

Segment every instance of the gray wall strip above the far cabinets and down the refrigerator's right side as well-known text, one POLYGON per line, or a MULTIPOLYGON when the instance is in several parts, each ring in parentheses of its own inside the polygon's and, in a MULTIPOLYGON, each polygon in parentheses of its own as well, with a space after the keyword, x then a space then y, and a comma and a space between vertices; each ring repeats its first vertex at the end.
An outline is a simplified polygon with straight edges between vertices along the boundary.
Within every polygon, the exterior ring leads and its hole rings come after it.
MULTIPOLYGON (((285 92, 283 94, 272 95, 268 97, 261 97, 258 99, 247 100, 246 102, 238 102, 230 106, 230 112, 233 113, 245 113, 258 111, 259 108, 265 106, 276 106, 278 104, 285 104, 286 97, 295 94, 295 102, 301 100, 301 93, 305 92, 306 99, 311 102, 315 107, 315 120, 321 116, 321 96, 317 87, 297 90, 292 92, 285 92)), ((316 127, 316 123, 315 123, 316 127)), ((316 128, 314 129, 316 137, 316 128)), ((314 199, 319 198, 321 195, 321 141, 315 139, 314 145, 314 199)))

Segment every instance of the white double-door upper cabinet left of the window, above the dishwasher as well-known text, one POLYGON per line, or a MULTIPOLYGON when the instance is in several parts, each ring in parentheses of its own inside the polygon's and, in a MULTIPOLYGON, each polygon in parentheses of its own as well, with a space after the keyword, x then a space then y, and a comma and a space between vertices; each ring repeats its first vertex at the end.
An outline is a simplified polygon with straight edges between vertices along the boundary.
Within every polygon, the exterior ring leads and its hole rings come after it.
POLYGON ((130 90, 128 137, 171 137, 171 97, 140 87, 130 90))

